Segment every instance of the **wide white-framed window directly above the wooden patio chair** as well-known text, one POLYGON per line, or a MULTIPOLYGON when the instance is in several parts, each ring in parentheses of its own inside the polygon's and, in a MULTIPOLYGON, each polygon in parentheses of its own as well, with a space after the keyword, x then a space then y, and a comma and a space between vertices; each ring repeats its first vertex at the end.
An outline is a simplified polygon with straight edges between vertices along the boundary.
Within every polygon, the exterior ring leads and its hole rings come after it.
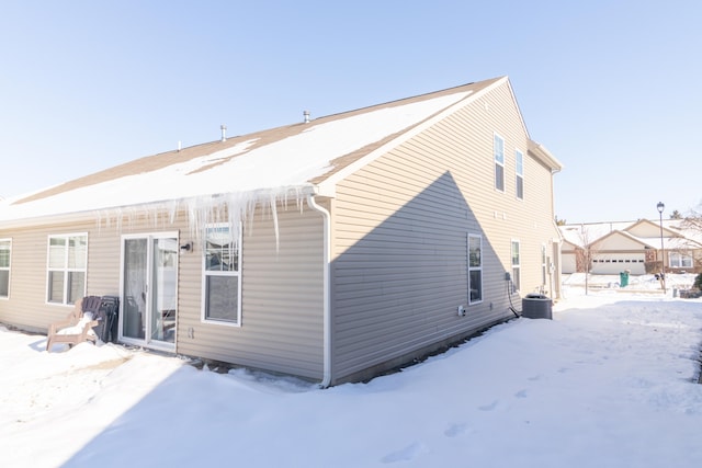
POLYGON ((86 295, 88 235, 48 237, 46 301, 75 304, 86 295))

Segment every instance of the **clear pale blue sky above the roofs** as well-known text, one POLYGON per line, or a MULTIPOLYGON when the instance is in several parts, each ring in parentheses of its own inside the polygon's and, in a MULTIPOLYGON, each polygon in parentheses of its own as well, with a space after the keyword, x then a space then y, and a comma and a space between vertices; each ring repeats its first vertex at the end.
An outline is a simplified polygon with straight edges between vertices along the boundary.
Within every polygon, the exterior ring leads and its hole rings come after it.
POLYGON ((510 77, 568 222, 702 202, 702 2, 0 4, 0 195, 228 135, 510 77))

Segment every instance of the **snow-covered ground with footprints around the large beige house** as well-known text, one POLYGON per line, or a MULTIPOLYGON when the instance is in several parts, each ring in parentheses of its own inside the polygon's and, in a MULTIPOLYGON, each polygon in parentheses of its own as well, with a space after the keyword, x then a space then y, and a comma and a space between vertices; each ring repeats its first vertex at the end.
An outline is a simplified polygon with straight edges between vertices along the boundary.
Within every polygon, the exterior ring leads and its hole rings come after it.
POLYGON ((654 289, 566 287, 554 320, 326 390, 0 328, 0 464, 699 467, 702 299, 654 289))

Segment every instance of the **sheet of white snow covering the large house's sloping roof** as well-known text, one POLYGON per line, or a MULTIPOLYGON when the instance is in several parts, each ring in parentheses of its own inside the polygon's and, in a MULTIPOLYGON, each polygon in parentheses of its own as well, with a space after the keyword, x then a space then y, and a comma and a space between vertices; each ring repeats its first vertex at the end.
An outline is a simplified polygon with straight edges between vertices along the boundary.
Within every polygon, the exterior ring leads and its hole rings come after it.
MULTIPOLYGON (((465 87, 454 90, 437 93, 434 98, 400 101, 324 118, 321 123, 313 121, 304 124, 302 132, 272 141, 261 138, 264 133, 253 134, 225 149, 211 151, 211 147, 222 148, 212 144, 202 156, 184 161, 174 157, 173 163, 140 173, 102 178, 98 183, 54 190, 47 196, 35 194, 29 198, 5 199, 0 202, 0 221, 162 204, 216 194, 249 194, 250 198, 251 194, 260 196, 312 187, 312 180, 333 169, 335 159, 406 130, 472 93, 465 87)), ((162 161, 161 155, 157 157, 162 161)))

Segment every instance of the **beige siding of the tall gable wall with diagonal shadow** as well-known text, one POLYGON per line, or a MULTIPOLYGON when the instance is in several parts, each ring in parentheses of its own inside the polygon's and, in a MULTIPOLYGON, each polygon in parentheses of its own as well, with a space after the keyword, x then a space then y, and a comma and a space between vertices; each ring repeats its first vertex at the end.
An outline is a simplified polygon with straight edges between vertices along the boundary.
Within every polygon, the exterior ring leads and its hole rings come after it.
MULTIPOLYGON (((503 84, 337 186, 333 205, 333 373, 338 380, 511 316, 505 272, 521 246, 522 289, 539 287, 551 221, 551 172, 503 84), (492 136, 505 139, 495 190, 492 136), (514 149, 524 155, 516 196, 514 149), (483 237, 483 301, 467 305, 467 236, 483 237), (458 317, 457 306, 466 306, 458 317)), ((521 308, 518 296, 512 297, 521 308)))

